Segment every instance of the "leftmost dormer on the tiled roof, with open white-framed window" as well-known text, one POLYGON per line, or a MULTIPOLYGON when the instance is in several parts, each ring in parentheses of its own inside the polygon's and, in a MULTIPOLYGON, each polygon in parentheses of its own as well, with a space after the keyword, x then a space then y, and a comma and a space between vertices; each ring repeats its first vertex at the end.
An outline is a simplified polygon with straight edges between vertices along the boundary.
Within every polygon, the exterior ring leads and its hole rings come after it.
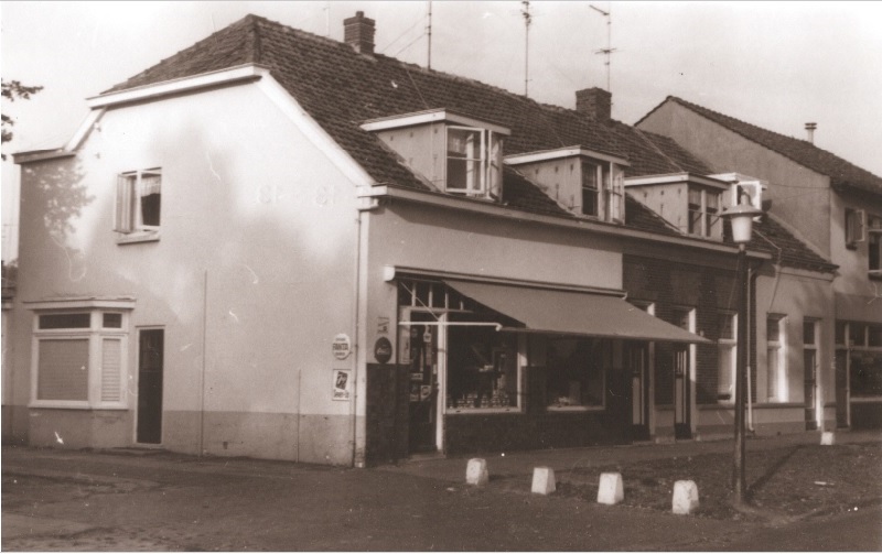
POLYGON ((503 141, 512 131, 444 109, 373 119, 362 124, 438 191, 501 199, 503 141))

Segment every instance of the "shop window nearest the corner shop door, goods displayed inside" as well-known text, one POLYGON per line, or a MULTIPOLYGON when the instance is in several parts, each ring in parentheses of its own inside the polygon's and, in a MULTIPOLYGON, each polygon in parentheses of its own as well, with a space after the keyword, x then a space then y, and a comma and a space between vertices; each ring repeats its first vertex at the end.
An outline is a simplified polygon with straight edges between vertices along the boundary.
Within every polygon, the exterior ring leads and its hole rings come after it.
POLYGON ((447 413, 510 411, 519 405, 517 339, 486 327, 448 327, 447 413))

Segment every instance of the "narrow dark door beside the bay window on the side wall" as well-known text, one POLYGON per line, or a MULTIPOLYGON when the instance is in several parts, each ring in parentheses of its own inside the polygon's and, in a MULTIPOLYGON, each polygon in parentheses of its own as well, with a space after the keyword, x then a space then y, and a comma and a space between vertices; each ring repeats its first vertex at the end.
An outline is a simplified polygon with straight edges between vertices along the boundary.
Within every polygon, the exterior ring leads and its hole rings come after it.
POLYGON ((138 443, 162 442, 162 360, 165 332, 141 329, 138 335, 138 443))

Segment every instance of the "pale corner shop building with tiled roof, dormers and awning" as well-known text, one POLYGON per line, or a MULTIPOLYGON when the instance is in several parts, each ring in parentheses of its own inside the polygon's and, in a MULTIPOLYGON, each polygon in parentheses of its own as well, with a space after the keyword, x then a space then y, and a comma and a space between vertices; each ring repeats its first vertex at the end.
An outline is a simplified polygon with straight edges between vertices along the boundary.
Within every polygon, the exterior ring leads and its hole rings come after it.
MULTIPOLYGON (((700 432, 736 248, 626 177, 730 183, 607 93, 540 105, 344 24, 249 15, 17 154, 12 433, 362 466, 700 432)), ((831 271, 761 227, 757 272, 831 271)))

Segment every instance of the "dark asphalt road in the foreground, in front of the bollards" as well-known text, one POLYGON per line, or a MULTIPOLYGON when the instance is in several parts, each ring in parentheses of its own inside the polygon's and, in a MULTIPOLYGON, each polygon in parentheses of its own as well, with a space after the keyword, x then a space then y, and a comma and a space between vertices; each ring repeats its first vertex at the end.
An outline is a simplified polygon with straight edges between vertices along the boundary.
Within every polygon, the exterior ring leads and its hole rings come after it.
POLYGON ((880 508, 771 528, 491 484, 247 459, 3 449, 15 551, 882 550, 880 508))

